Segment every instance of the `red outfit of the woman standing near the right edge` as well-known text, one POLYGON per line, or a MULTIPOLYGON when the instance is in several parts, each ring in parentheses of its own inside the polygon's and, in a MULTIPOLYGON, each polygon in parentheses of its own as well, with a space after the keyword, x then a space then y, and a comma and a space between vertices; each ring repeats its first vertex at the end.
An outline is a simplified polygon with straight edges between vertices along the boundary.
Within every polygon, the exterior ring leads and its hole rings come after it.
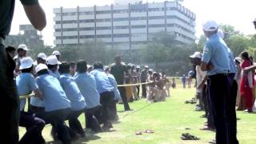
MULTIPOLYGON (((251 62, 248 60, 244 60, 242 62, 241 68, 243 70, 249 66, 252 66, 251 62)), ((254 74, 252 74, 252 82, 253 82, 253 86, 254 86, 254 74)), ((252 107, 254 105, 254 103, 253 103, 254 96, 252 93, 252 88, 250 88, 250 86, 249 86, 249 80, 248 80, 247 74, 243 74, 241 82, 240 82, 240 93, 241 93, 242 97, 245 98, 245 100, 246 100, 247 110, 252 110, 252 107)))

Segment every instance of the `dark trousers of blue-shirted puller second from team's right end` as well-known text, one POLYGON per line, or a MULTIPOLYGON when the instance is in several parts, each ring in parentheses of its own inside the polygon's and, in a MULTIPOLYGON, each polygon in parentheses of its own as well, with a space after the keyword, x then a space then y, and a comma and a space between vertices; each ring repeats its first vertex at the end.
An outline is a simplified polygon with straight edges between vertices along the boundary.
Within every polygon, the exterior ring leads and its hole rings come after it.
POLYGON ((107 124, 110 122, 110 103, 114 100, 114 92, 106 91, 100 94, 100 102, 102 104, 101 122, 107 124))

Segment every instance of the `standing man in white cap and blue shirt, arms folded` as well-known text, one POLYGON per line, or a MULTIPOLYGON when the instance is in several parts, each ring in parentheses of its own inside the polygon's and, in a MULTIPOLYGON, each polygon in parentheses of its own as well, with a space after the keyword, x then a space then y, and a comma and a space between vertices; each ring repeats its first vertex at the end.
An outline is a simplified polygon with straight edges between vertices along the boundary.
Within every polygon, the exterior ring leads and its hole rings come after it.
POLYGON ((207 71, 210 106, 214 114, 217 143, 232 143, 230 140, 230 59, 226 43, 218 37, 218 24, 207 21, 203 31, 208 38, 203 49, 201 69, 207 71))

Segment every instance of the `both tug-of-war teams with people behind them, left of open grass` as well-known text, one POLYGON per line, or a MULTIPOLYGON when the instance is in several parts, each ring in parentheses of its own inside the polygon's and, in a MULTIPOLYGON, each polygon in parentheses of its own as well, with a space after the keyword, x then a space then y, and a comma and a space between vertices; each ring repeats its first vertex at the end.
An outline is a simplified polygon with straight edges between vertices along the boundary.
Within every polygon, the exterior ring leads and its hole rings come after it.
POLYGON ((142 95, 147 102, 165 101, 170 96, 170 82, 165 73, 154 72, 149 66, 141 72, 140 66, 126 65, 120 56, 114 58, 111 66, 103 66, 101 62, 90 66, 85 60, 61 62, 57 50, 48 57, 39 53, 34 61, 26 55, 27 50, 24 44, 18 50, 6 47, 6 53, 14 58, 18 95, 24 97, 34 92, 27 104, 25 98, 20 100, 19 126, 26 127, 20 143, 44 143, 42 130, 46 124, 52 126, 55 141, 70 143, 84 138, 86 134, 78 120, 81 114, 85 114, 87 129, 110 130, 112 122, 118 121, 116 104, 122 102, 124 109, 130 110, 128 102, 141 98, 141 81, 145 82, 142 91, 146 89, 146 95, 142 95))

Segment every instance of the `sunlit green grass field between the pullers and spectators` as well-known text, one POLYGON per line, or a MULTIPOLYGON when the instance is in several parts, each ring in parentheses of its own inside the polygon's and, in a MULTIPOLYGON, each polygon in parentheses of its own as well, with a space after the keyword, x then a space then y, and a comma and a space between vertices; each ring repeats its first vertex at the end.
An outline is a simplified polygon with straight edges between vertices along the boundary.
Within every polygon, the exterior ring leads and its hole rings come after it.
MULTIPOLYGON (((166 102, 147 103, 146 99, 130 103, 132 111, 124 112, 123 106, 118 105, 119 122, 114 124, 110 132, 99 134, 87 133, 87 137, 75 143, 100 144, 201 144, 214 139, 214 132, 200 130, 206 122, 200 118, 203 112, 194 111, 194 105, 185 104, 187 99, 194 97, 194 89, 170 90, 171 97, 166 102), (189 128, 190 130, 186 130, 189 128), (154 130, 154 134, 136 135, 138 130, 154 130), (181 134, 190 133, 201 138, 199 141, 182 141, 181 134)), ((80 117, 85 126, 84 116, 80 117)), ((25 129, 21 128, 20 134, 25 129)), ((43 130, 43 136, 49 143, 50 125, 43 130)), ((238 112, 238 140, 241 144, 256 143, 256 114, 238 112)))

